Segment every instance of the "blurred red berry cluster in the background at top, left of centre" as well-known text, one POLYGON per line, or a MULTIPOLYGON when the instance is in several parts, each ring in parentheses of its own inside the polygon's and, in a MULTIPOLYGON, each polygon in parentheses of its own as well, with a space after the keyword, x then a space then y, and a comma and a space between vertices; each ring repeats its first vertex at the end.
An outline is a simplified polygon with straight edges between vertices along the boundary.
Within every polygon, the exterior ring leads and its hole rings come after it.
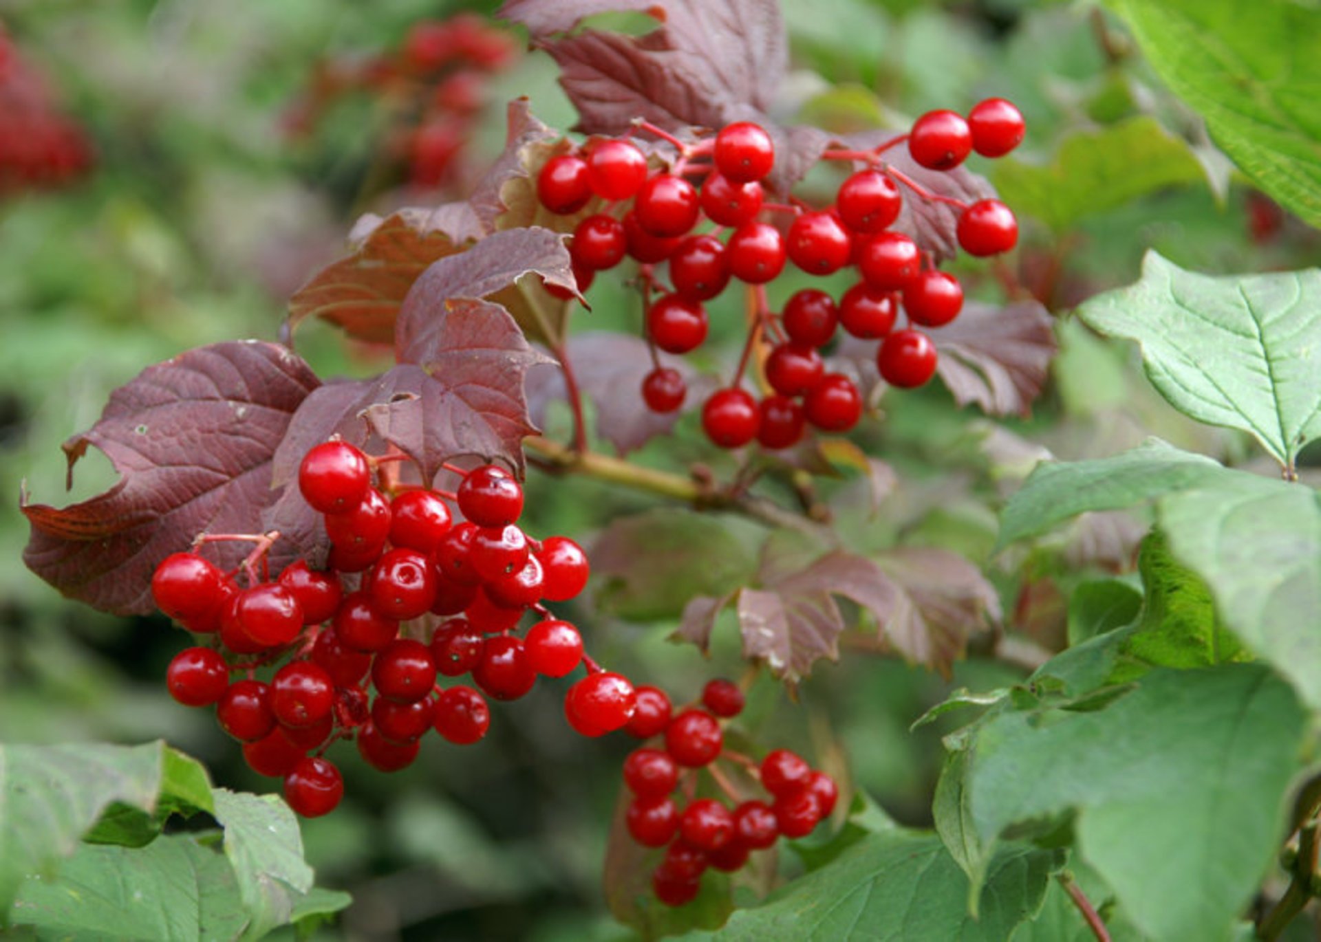
POLYGON ((403 115, 388 144, 410 182, 439 187, 454 173, 487 100, 487 80, 514 59, 507 33, 480 16, 413 24, 398 50, 369 62, 326 63, 287 116, 296 133, 309 132, 341 95, 370 91, 403 115))

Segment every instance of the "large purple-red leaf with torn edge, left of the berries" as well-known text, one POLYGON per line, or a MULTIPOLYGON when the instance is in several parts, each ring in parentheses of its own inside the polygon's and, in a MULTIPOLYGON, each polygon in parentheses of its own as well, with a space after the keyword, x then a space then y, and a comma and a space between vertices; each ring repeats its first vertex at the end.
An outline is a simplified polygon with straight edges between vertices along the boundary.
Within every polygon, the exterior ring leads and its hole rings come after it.
MULTIPOLYGON (((24 505, 32 525, 24 561, 95 608, 151 612, 161 559, 202 532, 260 529, 277 496, 271 459, 316 387, 312 369, 273 343, 218 343, 148 367, 111 394, 96 425, 65 443, 70 474, 91 446, 110 458, 119 482, 62 509, 24 505)), ((232 567, 247 549, 219 545, 213 558, 232 567)), ((272 563, 281 567, 295 551, 277 542, 272 563)))

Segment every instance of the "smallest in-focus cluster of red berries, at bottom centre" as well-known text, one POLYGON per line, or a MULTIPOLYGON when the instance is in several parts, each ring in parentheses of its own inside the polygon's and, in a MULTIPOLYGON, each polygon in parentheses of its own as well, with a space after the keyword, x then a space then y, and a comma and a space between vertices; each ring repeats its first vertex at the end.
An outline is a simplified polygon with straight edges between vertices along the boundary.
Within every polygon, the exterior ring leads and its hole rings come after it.
POLYGON ((793 752, 775 749, 758 765, 724 748, 720 723, 744 707, 742 691, 731 681, 711 681, 701 693, 705 708, 690 707, 674 716, 670 699, 655 687, 638 687, 637 701, 624 728, 639 739, 663 736, 663 748, 642 747, 625 760, 624 784, 634 796, 625 821, 643 847, 666 847, 651 875, 657 898, 666 905, 682 906, 695 897, 707 867, 736 871, 753 851, 766 850, 781 835, 806 836, 834 810, 835 781, 793 752), (741 796, 716 765, 721 760, 760 780, 771 802, 741 796), (696 797, 699 769, 708 770, 731 805, 696 797))

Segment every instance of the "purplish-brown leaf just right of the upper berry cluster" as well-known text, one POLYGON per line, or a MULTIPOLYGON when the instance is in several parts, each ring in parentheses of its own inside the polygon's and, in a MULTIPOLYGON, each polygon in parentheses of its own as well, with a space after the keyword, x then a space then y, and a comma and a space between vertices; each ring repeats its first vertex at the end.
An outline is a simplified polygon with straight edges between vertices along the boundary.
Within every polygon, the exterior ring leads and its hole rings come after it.
POLYGON ((1046 383, 1055 354, 1050 314, 1036 301, 1007 307, 968 303, 930 331, 941 354, 937 373, 959 405, 992 416, 1025 416, 1046 383))

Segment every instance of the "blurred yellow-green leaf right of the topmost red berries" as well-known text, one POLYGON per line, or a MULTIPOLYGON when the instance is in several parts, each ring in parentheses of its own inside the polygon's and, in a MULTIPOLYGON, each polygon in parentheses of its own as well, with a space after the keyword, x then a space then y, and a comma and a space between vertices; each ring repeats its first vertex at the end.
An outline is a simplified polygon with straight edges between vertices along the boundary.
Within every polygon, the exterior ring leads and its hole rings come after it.
POLYGON ((1045 166, 999 161, 992 179, 1016 212, 1036 216, 1059 232, 1086 216, 1202 175, 1188 142, 1143 115, 1071 133, 1045 166))

